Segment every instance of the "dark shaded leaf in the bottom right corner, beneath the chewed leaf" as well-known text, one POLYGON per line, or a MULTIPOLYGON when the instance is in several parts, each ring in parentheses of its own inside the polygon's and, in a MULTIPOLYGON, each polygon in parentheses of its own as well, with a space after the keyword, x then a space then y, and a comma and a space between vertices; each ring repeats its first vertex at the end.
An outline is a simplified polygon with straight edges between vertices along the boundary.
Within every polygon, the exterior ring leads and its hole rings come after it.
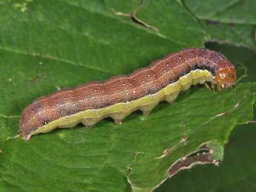
POLYGON ((156 191, 255 191, 255 134, 255 125, 237 126, 232 130, 220 166, 204 165, 180 171, 156 191))

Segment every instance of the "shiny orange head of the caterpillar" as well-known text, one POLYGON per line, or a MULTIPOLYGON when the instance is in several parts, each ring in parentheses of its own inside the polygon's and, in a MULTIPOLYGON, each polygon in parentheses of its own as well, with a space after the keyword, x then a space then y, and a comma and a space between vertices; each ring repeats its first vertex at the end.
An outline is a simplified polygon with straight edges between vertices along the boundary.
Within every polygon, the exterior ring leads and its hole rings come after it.
POLYGON ((218 70, 215 75, 215 81, 217 83, 217 89, 223 90, 225 88, 235 85, 237 75, 233 67, 226 67, 218 70))

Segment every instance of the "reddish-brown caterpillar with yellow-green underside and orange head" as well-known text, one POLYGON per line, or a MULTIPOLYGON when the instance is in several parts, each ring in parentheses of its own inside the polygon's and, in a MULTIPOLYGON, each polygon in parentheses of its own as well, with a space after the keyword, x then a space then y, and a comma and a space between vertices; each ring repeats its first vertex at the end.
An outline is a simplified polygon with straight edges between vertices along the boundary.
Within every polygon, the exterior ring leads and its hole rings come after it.
POLYGON ((211 82, 223 90, 235 85, 235 81, 235 68, 223 54, 187 48, 129 75, 39 97, 24 108, 19 133, 28 140, 37 133, 70 128, 80 122, 90 128, 108 116, 120 125, 135 110, 148 115, 159 102, 173 102, 181 90, 188 90, 191 85, 211 82))

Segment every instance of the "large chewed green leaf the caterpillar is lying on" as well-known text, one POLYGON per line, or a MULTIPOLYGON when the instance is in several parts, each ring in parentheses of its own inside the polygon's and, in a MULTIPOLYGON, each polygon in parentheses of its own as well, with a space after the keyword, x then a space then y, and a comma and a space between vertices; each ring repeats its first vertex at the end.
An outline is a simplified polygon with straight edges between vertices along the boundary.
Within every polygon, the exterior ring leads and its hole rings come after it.
POLYGON ((93 129, 13 139, 22 109, 38 96, 131 73, 202 46, 206 35, 178 1, 145 1, 137 11, 157 31, 111 11, 131 13, 140 1, 0 4, 1 191, 151 191, 182 168, 217 164, 232 128, 252 119, 255 83, 223 93, 198 86, 123 125, 104 119, 93 129))

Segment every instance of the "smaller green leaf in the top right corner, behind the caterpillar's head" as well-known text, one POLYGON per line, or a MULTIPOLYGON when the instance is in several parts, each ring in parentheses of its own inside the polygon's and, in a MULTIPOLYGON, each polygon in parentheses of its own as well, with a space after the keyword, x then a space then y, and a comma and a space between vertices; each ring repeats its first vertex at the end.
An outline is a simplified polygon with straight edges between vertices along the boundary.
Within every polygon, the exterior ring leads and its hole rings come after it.
POLYGON ((184 4, 209 34, 207 41, 256 50, 256 1, 184 0, 184 4))

